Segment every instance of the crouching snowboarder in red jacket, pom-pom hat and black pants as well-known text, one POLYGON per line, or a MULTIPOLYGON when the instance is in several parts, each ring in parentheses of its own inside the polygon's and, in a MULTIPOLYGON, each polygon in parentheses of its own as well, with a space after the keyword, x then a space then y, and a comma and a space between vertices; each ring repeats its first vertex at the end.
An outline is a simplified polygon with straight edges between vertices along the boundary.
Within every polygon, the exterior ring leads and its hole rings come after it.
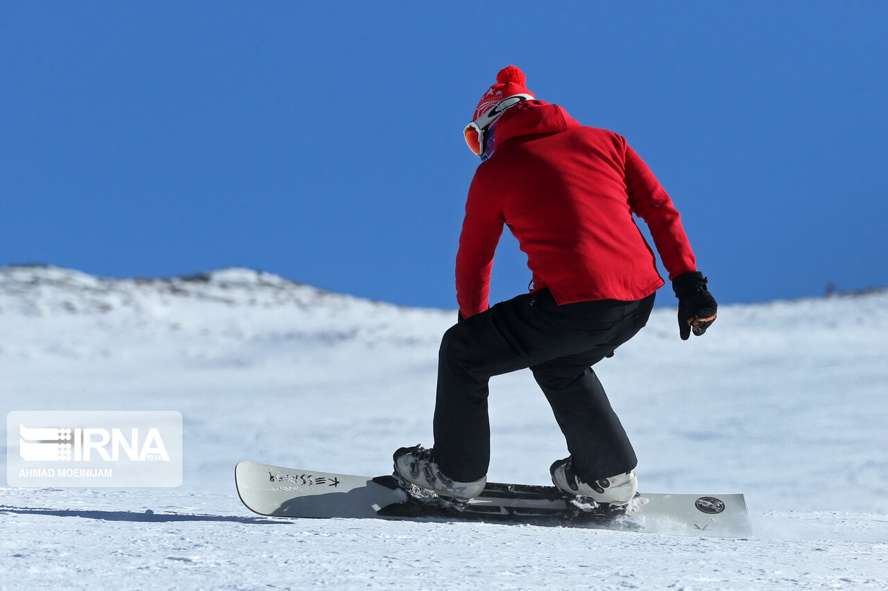
POLYGON ((456 255, 459 321, 440 345, 434 446, 400 448, 395 474, 442 496, 478 496, 490 460, 488 380, 529 367, 570 453, 551 465, 554 485, 625 505, 638 461, 591 366, 645 326, 664 284, 632 214, 669 272, 681 339, 716 319, 678 211, 624 138, 536 100, 517 67, 499 72, 464 136, 483 162, 456 255), (488 308, 503 224, 527 254, 532 287, 488 308))

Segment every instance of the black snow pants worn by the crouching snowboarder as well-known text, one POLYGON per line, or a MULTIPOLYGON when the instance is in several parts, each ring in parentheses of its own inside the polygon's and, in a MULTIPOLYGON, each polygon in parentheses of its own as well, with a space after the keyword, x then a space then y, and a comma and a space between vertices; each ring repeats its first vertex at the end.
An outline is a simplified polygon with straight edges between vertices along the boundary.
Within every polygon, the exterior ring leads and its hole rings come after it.
POLYGON ((441 471, 459 482, 488 473, 488 380, 525 367, 549 400, 579 477, 590 482, 635 468, 635 450, 591 366, 636 335, 653 307, 653 294, 559 306, 543 289, 448 329, 434 416, 441 471))

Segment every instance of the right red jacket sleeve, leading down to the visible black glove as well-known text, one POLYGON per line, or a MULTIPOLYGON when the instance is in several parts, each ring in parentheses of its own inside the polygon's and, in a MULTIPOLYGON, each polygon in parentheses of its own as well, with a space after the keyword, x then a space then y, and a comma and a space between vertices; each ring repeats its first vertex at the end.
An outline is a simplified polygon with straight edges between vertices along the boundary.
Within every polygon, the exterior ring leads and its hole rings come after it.
POLYGON ((696 258, 678 210, 654 173, 630 146, 625 150, 626 191, 632 213, 645 220, 670 280, 696 271, 696 258))

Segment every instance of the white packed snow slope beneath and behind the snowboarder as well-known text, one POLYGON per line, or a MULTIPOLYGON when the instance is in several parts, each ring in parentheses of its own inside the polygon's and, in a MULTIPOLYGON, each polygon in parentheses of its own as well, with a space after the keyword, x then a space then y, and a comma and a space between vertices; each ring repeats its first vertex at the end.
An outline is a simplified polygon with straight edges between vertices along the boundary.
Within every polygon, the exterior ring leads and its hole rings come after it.
MULTIPOLYGON (((174 410, 185 444, 179 488, 0 489, 0 588, 888 588, 884 291, 722 306, 688 342, 657 308, 596 366, 642 490, 746 493, 753 538, 242 506, 237 461, 373 476, 395 448, 431 445, 454 319, 243 269, 0 268, 4 416, 174 410)), ((547 484, 567 451, 530 374, 494 378, 490 412, 488 477, 547 484)))

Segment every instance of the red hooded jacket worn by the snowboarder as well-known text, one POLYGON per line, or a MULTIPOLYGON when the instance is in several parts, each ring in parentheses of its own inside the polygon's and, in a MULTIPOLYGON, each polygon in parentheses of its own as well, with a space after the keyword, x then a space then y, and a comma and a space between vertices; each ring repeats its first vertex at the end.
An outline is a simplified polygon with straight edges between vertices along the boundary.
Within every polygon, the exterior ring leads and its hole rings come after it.
POLYGON ((456 255, 464 317, 488 309, 503 224, 527 254, 532 291, 549 288, 559 304, 638 300, 662 287, 632 214, 650 228, 670 279, 696 271, 670 196, 621 136, 534 100, 503 114, 495 140, 472 179, 456 255))

